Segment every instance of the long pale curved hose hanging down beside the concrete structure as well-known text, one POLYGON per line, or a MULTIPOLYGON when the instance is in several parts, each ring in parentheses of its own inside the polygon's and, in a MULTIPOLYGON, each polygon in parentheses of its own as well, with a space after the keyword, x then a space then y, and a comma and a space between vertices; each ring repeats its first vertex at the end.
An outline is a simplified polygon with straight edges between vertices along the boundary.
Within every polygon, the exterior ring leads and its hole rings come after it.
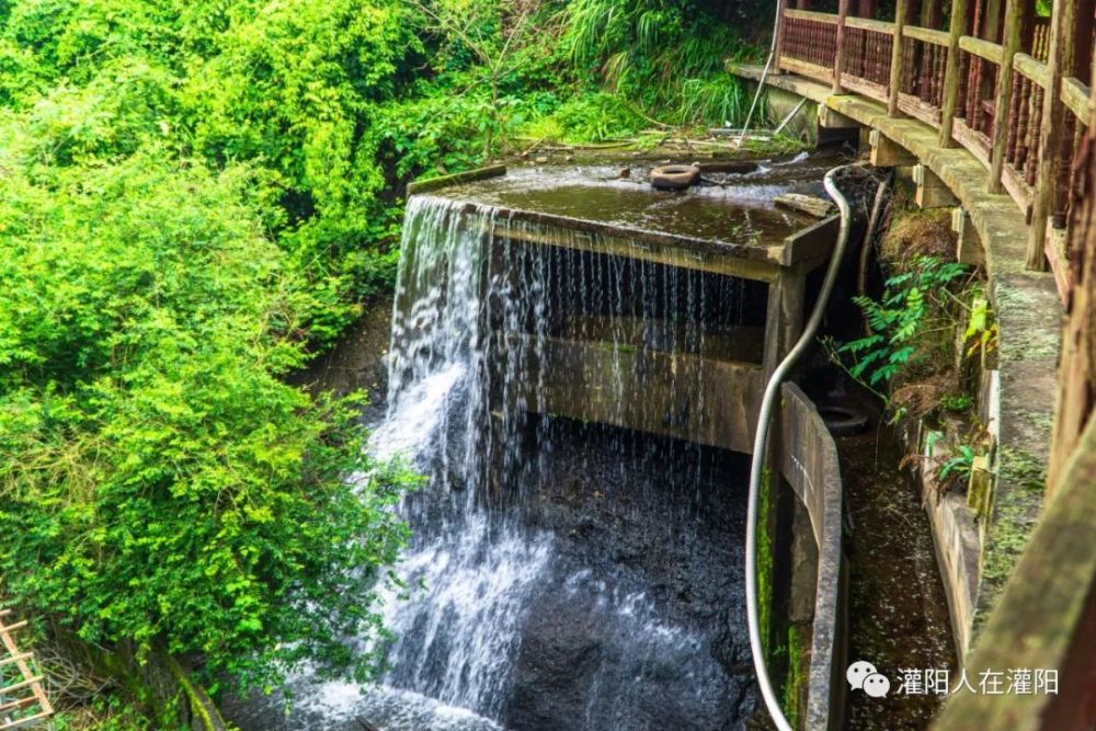
POLYGON ((845 248, 848 244, 848 233, 852 228, 853 210, 848 201, 837 190, 834 176, 841 170, 854 168, 842 165, 834 168, 825 174, 823 184, 825 191, 837 204, 841 210, 841 229, 837 233, 837 244, 834 247, 833 255, 830 259, 830 267, 826 270, 825 279, 822 282, 822 289, 819 292, 814 311, 803 328, 803 333, 799 336, 795 347, 785 356, 780 365, 776 367, 765 386, 765 395, 761 400, 761 412, 757 416, 757 433, 754 436, 753 461, 750 465, 750 499, 746 507, 746 624, 750 627, 750 650, 754 660, 754 672, 757 675, 757 685, 761 686, 761 695, 765 700, 768 715, 776 723, 779 731, 792 731, 788 719, 784 717, 780 709, 780 701, 773 692, 773 684, 768 678, 768 669, 765 666, 765 655, 761 642, 761 628, 757 626, 757 496, 761 489, 762 472, 765 464, 765 447, 768 442, 768 426, 773 415, 773 404, 779 393, 780 382, 791 370, 796 362, 807 352, 819 325, 822 324, 822 316, 825 315, 826 305, 830 302, 830 295, 833 293, 833 285, 837 281, 837 271, 841 269, 841 261, 845 255, 845 248))

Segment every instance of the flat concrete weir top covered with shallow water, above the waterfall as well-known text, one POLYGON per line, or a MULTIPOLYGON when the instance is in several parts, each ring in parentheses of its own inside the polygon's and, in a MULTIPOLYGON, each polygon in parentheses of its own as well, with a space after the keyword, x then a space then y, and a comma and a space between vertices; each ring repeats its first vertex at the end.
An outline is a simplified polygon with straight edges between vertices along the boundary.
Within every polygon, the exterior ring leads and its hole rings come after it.
POLYGON ((784 269, 811 269, 829 254, 832 237, 798 236, 813 219, 774 204, 800 181, 820 181, 829 161, 700 163, 700 184, 683 192, 654 190, 651 167, 498 167, 419 183, 409 193, 579 232, 538 243, 747 279, 773 282, 784 269))

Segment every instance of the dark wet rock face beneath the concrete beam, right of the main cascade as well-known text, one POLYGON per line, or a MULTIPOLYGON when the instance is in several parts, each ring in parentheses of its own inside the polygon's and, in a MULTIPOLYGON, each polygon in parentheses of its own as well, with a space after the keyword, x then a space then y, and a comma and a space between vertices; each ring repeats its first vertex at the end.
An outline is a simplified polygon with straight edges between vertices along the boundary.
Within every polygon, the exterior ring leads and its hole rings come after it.
POLYGON ((738 455, 563 422, 522 512, 557 536, 503 719, 514 729, 737 729, 755 705, 738 455))

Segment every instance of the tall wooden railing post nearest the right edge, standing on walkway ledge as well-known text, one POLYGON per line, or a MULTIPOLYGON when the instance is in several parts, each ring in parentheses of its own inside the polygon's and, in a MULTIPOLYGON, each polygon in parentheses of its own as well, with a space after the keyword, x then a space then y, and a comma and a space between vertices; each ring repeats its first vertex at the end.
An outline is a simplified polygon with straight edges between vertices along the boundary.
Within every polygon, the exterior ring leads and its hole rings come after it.
POLYGON ((1042 98, 1042 128, 1039 134, 1039 170, 1036 172, 1031 207, 1031 238, 1027 267, 1043 271, 1047 265, 1047 225, 1058 197, 1058 173, 1062 165, 1062 130, 1069 110, 1062 104, 1062 77, 1073 72, 1073 39, 1076 0, 1054 0, 1050 20, 1050 56, 1047 59, 1047 89, 1042 98))

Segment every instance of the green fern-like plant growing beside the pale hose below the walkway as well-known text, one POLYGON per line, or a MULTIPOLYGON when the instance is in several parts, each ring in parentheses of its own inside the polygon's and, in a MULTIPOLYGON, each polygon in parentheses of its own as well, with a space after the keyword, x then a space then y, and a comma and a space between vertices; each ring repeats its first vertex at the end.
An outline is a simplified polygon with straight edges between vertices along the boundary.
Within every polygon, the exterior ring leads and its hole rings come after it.
MULTIPOLYGON (((909 271, 887 281, 880 301, 869 297, 854 298, 864 310, 871 334, 837 349, 831 346, 836 351, 834 355, 848 358, 849 375, 883 396, 880 389, 917 355, 916 339, 926 324, 937 324, 948 309, 939 294, 967 271, 964 264, 921 256, 909 271)), ((920 354, 921 357, 929 355, 920 354)))

